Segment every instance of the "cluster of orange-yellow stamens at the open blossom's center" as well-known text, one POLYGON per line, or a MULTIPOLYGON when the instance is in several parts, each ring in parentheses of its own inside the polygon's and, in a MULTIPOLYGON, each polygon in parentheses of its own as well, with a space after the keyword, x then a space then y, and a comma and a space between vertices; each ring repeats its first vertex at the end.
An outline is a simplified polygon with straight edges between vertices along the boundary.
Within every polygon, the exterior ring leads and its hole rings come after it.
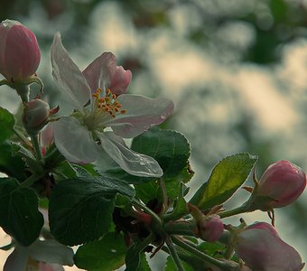
POLYGON ((101 89, 97 89, 93 94, 95 98, 94 107, 101 113, 107 113, 111 117, 116 117, 116 114, 125 114, 126 110, 121 110, 122 105, 116 101, 116 94, 112 93, 110 89, 106 90, 106 96, 100 98, 101 89))

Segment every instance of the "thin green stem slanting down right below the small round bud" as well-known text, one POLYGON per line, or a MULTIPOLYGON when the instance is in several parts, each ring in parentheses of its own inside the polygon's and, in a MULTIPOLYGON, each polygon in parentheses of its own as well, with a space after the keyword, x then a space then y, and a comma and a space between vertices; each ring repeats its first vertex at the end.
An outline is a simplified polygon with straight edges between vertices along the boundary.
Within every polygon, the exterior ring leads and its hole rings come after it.
POLYGON ((225 271, 230 271, 230 270, 237 270, 238 268, 238 264, 235 262, 224 262, 224 261, 220 261, 214 257, 210 257, 207 254, 202 253, 200 250, 191 247, 189 244, 182 242, 180 239, 178 238, 172 238, 172 241, 174 244, 176 244, 177 246, 189 251, 191 254, 193 254, 196 257, 199 257, 201 260, 205 260, 208 263, 214 265, 214 266, 218 266, 219 268, 221 268, 222 270, 225 271))

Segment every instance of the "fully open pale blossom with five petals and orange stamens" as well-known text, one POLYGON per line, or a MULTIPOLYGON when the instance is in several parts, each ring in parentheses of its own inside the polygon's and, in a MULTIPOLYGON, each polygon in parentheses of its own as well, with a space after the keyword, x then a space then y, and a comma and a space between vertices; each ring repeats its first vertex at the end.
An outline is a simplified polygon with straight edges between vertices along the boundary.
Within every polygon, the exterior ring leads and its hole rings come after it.
POLYGON ((101 54, 81 72, 60 41, 51 45, 52 75, 75 111, 55 122, 54 142, 71 163, 87 164, 107 153, 127 173, 162 176, 160 165, 130 150, 123 137, 142 134, 172 113, 172 100, 126 94, 131 72, 116 66, 111 52, 101 54))

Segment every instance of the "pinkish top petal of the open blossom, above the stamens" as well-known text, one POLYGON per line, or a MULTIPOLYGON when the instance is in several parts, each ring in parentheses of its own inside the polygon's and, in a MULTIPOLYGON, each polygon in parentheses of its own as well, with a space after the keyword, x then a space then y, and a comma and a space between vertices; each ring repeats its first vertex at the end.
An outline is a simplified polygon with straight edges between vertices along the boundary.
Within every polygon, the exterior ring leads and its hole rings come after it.
POLYGON ((111 82, 111 77, 116 73, 116 56, 112 52, 104 52, 82 73, 92 91, 105 90, 111 82))

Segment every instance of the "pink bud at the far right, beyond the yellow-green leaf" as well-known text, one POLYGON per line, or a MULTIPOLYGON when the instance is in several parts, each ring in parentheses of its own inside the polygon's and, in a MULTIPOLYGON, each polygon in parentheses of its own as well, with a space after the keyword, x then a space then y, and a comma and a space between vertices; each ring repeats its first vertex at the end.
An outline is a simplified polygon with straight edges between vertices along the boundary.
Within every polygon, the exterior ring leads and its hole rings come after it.
POLYGON ((272 199, 266 207, 284 207, 295 201, 306 186, 306 175, 302 169, 289 161, 281 160, 271 164, 262 175, 257 195, 272 199))

